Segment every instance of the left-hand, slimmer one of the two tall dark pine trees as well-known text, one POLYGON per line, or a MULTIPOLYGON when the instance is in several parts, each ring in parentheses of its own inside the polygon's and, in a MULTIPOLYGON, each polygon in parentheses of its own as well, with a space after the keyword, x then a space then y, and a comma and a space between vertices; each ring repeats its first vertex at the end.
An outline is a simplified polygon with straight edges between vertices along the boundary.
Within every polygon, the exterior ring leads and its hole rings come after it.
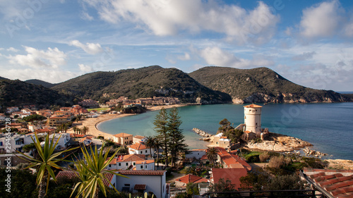
POLYGON ((169 130, 168 130, 168 114, 167 111, 162 108, 160 113, 155 116, 155 132, 158 133, 157 138, 160 140, 162 149, 165 154, 165 166, 168 166, 168 144, 169 144, 169 130))

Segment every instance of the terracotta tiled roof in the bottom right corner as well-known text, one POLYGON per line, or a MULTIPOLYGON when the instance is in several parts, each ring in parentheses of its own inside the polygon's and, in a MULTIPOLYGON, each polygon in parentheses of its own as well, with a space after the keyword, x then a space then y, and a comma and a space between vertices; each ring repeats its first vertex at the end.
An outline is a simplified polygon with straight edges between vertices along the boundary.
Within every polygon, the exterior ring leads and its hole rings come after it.
POLYGON ((353 197, 353 170, 304 168, 301 177, 325 197, 353 197))

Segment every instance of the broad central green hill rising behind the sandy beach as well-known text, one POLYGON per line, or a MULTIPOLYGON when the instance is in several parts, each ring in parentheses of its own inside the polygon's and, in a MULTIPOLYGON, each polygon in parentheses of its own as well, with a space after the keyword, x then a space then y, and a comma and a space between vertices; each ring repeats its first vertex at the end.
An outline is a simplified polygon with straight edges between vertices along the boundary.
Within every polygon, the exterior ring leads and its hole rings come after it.
POLYGON ((178 97, 182 102, 215 104, 232 101, 228 94, 216 92, 198 83, 176 68, 149 66, 116 72, 95 72, 61 82, 52 89, 80 98, 178 97))

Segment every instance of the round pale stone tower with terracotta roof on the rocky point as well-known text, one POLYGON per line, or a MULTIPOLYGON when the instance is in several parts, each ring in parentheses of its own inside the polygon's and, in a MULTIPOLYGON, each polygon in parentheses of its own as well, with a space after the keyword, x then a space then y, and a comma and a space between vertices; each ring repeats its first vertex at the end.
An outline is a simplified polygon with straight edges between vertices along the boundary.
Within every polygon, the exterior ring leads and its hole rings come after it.
POLYGON ((262 106, 250 104, 244 106, 245 130, 261 135, 261 108, 262 106))

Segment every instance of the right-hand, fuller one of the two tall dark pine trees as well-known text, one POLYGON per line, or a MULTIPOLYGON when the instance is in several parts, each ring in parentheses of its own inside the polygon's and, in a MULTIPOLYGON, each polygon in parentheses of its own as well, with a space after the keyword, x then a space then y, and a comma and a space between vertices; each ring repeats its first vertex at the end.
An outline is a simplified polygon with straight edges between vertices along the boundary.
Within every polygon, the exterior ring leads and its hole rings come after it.
POLYGON ((181 123, 179 111, 174 107, 169 111, 169 120, 167 123, 170 136, 169 151, 172 154, 172 166, 175 165, 178 152, 188 151, 188 145, 184 144, 185 137, 183 135, 183 131, 179 128, 181 123))

